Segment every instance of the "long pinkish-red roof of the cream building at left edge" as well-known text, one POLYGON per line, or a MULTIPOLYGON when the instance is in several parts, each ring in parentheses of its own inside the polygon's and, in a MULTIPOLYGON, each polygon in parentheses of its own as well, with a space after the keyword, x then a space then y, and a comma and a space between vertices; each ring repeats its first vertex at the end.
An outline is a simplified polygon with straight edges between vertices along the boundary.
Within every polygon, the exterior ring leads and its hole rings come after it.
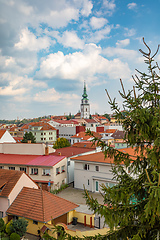
POLYGON ((26 166, 54 166, 64 156, 53 155, 20 155, 0 153, 0 164, 26 165, 26 166))

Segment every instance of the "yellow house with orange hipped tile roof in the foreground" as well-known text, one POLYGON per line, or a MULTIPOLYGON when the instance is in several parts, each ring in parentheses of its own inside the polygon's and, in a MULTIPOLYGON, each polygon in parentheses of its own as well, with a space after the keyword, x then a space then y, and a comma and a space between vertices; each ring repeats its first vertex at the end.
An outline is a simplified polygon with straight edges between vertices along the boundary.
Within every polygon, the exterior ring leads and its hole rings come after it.
POLYGON ((71 224, 75 208, 79 205, 42 189, 24 187, 7 210, 8 220, 25 218, 27 232, 39 235, 44 228, 53 232, 53 224, 71 224))

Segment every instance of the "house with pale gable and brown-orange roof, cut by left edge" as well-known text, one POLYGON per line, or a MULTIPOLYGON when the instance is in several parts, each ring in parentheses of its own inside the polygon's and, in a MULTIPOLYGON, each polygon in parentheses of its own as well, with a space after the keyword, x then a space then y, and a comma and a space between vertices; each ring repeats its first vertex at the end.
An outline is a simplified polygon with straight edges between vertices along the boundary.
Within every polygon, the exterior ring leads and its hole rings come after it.
POLYGON ((0 169, 0 218, 23 187, 38 189, 38 185, 24 172, 0 169))

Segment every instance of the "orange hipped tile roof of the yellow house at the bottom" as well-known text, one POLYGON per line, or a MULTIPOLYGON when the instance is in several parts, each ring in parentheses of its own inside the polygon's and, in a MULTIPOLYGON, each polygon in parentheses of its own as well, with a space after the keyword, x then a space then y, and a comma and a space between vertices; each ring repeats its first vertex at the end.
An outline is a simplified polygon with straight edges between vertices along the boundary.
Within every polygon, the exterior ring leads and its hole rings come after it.
POLYGON ((50 192, 24 187, 8 208, 7 213, 48 222, 78 207, 77 204, 50 192))

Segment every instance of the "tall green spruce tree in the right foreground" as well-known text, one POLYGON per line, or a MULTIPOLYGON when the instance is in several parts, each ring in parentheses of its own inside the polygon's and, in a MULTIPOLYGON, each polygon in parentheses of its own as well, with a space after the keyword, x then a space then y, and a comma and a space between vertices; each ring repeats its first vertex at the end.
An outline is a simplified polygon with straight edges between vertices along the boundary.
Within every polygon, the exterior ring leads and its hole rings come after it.
MULTIPOLYGON (((151 49, 144 41, 147 52, 140 49, 148 65, 148 73, 136 69, 135 86, 128 93, 121 82, 125 114, 116 100, 111 109, 116 119, 123 119, 128 147, 135 149, 134 156, 108 147, 104 154, 114 158, 112 172, 118 184, 112 188, 102 185, 104 205, 89 196, 86 203, 95 213, 104 216, 110 227, 106 234, 111 239, 158 240, 160 237, 160 70, 151 49), (122 164, 123 163, 123 166, 122 164), (126 169, 130 168, 130 173, 126 169)), ((98 139, 94 139, 98 140, 98 139)), ((99 144, 104 147, 100 140, 99 144)))

